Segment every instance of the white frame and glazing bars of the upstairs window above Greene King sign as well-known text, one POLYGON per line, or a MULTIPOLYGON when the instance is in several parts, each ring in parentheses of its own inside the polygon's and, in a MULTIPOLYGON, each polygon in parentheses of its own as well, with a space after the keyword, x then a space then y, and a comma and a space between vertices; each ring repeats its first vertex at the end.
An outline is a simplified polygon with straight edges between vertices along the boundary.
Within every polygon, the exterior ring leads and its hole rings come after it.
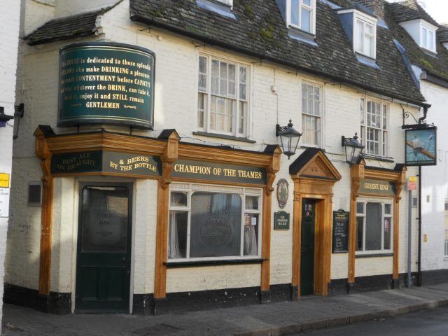
POLYGON ((369 97, 360 97, 360 142, 365 145, 363 153, 367 155, 380 156, 383 158, 387 158, 389 155, 389 132, 390 132, 390 106, 384 102, 381 102, 377 99, 371 99, 369 97), (377 118, 372 113, 372 109, 368 110, 368 103, 371 104, 379 104, 380 106, 380 115, 379 115, 379 127, 372 125, 372 120, 377 118), (370 116, 369 116, 370 115, 370 116), (368 125, 368 121, 370 118, 370 125, 368 125), (371 132, 377 131, 379 132, 378 139, 367 139, 367 133, 371 130, 371 132), (374 144, 378 144, 378 152, 376 152, 370 148, 370 144, 374 146, 374 144))

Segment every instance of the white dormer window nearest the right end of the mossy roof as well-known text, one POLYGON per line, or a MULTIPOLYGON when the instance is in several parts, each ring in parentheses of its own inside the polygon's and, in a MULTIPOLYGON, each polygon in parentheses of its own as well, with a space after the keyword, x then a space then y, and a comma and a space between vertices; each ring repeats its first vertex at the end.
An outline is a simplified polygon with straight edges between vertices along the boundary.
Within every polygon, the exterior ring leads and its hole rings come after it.
POLYGON ((369 18, 356 15, 354 27, 353 49, 370 58, 376 56, 377 24, 369 18))

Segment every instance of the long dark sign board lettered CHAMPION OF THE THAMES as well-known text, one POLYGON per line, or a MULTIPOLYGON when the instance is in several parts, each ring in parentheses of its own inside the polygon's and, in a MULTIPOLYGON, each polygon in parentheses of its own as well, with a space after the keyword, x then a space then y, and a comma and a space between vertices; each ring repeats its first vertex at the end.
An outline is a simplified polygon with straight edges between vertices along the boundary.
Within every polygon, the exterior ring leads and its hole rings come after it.
POLYGON ((224 165, 216 162, 177 160, 172 177, 266 184, 266 169, 259 167, 224 165))

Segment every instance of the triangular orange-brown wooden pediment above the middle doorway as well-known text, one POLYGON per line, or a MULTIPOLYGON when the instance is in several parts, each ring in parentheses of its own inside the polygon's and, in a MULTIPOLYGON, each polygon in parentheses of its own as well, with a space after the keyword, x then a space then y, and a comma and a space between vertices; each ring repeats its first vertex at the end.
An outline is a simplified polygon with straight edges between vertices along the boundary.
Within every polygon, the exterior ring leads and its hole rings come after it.
POLYGON ((289 174, 293 177, 308 177, 339 181, 341 174, 318 148, 307 148, 290 166, 289 174))

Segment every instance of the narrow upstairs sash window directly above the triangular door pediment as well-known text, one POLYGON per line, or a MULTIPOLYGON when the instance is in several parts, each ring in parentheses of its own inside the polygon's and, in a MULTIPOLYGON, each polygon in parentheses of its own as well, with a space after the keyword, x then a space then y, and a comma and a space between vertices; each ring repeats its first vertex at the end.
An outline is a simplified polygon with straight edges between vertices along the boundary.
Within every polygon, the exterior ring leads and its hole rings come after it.
POLYGON ((321 87, 302 83, 302 144, 321 146, 321 87))

